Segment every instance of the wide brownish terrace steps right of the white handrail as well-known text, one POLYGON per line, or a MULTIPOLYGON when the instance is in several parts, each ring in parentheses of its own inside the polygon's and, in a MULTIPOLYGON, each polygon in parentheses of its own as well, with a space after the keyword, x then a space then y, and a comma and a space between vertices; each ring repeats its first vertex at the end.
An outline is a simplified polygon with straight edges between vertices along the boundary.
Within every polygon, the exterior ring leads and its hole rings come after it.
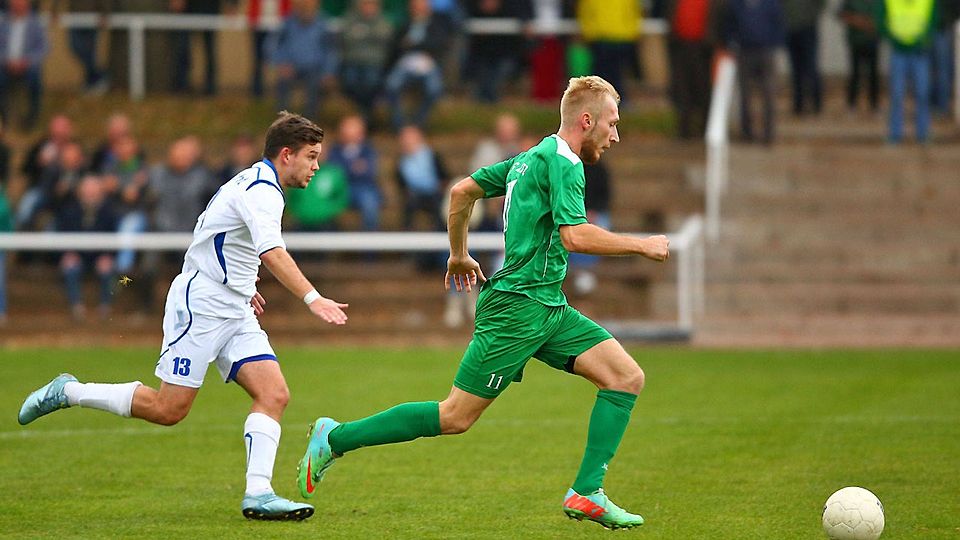
POLYGON ((695 341, 960 345, 955 146, 808 135, 731 148, 695 341))

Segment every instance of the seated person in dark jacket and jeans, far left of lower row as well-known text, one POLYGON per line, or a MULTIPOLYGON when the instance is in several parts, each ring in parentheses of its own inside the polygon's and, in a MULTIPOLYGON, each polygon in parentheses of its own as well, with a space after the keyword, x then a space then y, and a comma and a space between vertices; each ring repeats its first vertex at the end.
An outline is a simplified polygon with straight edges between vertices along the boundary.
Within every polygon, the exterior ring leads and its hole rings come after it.
POLYGON ((17 203, 14 221, 17 230, 34 227, 37 213, 47 204, 42 182, 44 170, 55 167, 60 162, 60 153, 72 140, 73 122, 61 114, 50 119, 46 135, 27 151, 21 167, 27 185, 17 203))

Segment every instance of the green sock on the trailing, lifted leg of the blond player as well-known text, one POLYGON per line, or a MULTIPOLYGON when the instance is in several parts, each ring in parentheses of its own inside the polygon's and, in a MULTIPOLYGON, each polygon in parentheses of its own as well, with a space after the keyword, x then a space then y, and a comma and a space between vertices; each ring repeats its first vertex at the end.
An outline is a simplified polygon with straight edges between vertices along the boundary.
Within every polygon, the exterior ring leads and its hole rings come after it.
POLYGON ((330 448, 337 454, 361 446, 377 446, 440 434, 440 404, 436 401, 402 403, 355 422, 340 424, 330 432, 330 448))

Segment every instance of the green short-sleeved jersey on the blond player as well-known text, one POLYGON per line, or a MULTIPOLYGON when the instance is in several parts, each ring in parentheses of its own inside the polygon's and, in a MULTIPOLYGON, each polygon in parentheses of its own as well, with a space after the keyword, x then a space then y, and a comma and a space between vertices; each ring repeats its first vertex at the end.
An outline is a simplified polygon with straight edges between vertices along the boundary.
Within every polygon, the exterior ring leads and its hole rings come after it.
POLYGON ((587 222, 583 163, 558 135, 471 177, 484 197, 505 196, 503 268, 487 286, 523 294, 547 306, 566 305, 560 289, 569 253, 561 225, 587 222))

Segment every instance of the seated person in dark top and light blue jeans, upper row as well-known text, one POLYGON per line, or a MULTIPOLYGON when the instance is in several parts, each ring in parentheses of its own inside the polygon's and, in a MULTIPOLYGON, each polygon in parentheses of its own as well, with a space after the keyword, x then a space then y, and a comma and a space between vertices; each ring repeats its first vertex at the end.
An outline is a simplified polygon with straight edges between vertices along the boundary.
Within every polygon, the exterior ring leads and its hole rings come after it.
POLYGON ((419 127, 443 95, 443 71, 440 61, 450 45, 450 21, 434 13, 429 0, 410 0, 410 19, 394 36, 392 67, 387 75, 386 96, 392 112, 394 130, 407 124, 419 127), (412 116, 404 113, 404 94, 413 88, 422 90, 412 116))

